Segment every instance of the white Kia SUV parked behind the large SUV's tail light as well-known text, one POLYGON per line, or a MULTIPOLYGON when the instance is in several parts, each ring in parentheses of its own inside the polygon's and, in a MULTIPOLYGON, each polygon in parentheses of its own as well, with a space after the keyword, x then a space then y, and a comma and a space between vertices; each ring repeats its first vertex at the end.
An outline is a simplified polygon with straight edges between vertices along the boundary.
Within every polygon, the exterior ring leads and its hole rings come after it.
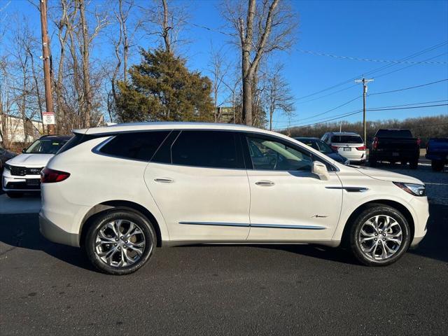
POLYGON ((9 197, 21 197, 41 189, 41 170, 69 136, 45 135, 34 141, 22 154, 8 160, 3 169, 3 190, 9 197))

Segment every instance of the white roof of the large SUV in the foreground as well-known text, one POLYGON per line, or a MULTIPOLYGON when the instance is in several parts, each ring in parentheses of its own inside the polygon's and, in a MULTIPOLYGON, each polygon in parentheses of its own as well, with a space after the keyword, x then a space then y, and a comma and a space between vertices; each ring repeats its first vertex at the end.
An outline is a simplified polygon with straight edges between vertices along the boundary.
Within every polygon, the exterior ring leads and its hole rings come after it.
MULTIPOLYGON (((101 134, 144 130, 239 130, 258 131, 274 133, 260 130, 256 127, 246 125, 224 124, 224 123, 179 123, 179 122, 150 122, 150 123, 124 123, 106 127, 92 127, 84 130, 73 130, 75 133, 101 134)), ((278 133, 276 133, 278 135, 278 133)))

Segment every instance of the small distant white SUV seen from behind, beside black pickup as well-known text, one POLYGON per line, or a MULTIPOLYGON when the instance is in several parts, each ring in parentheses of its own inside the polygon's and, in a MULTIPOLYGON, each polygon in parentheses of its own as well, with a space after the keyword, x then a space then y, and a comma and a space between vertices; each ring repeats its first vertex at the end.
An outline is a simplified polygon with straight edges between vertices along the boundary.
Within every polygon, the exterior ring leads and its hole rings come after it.
POLYGON ((327 132, 322 139, 331 146, 333 151, 350 160, 350 162, 365 162, 365 144, 359 134, 353 132, 327 132))

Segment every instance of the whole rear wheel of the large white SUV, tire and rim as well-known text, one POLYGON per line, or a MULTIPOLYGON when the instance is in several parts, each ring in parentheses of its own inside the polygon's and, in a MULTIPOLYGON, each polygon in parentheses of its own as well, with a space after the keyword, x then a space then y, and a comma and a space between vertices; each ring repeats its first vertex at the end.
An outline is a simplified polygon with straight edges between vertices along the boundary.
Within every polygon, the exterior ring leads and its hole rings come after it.
POLYGON ((130 274, 143 266, 154 252, 155 230, 131 210, 111 210, 97 215, 85 236, 85 252, 101 272, 130 274))

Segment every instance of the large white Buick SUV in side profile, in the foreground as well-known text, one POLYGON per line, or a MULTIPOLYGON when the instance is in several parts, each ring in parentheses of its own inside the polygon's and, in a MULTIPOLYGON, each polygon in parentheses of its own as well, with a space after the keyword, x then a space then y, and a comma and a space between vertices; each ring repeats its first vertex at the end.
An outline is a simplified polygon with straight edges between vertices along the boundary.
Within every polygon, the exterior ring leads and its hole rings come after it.
POLYGON ((425 186, 340 165, 282 134, 202 123, 74 131, 41 173, 42 234, 109 274, 156 246, 343 244, 388 265, 426 234, 425 186))

